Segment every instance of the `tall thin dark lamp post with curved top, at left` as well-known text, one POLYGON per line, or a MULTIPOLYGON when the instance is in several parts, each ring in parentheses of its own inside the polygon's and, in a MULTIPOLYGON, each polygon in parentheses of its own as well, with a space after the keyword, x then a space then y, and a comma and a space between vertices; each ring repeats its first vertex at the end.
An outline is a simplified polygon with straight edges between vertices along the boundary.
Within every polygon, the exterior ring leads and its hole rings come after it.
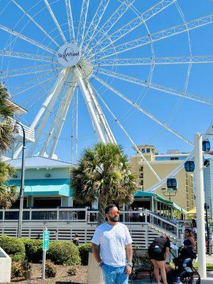
POLYGON ((23 218, 23 194, 24 194, 24 162, 25 162, 25 149, 26 149, 26 138, 25 138, 25 130, 23 125, 16 121, 16 124, 21 126, 23 131, 23 144, 22 144, 22 160, 21 160, 21 186, 20 186, 20 204, 19 204, 19 216, 18 216, 18 234, 17 237, 21 238, 21 230, 22 230, 22 218, 23 218))

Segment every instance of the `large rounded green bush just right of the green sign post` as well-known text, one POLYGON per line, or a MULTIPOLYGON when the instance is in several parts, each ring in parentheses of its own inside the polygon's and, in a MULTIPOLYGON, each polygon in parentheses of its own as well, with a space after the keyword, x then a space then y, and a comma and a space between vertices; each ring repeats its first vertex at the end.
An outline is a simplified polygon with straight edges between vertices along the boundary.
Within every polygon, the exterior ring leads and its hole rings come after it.
POLYGON ((47 253, 47 258, 55 264, 64 264, 72 266, 80 264, 80 254, 75 244, 71 241, 52 241, 50 249, 47 253))

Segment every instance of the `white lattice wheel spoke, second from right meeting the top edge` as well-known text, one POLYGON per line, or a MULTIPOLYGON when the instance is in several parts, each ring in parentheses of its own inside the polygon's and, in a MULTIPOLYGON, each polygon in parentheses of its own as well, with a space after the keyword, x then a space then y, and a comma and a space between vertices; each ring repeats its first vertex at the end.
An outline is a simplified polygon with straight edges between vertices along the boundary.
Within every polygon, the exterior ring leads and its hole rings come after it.
POLYGON ((99 31, 97 31, 96 36, 98 36, 99 33, 102 33, 102 36, 101 38, 99 38, 99 40, 97 40, 97 42, 92 48, 89 48, 89 50, 87 50, 87 55, 92 52, 93 48, 96 48, 97 45, 102 42, 104 36, 107 35, 109 31, 111 31, 111 28, 113 28, 114 25, 119 21, 119 19, 124 16, 124 13, 129 10, 129 7, 134 3, 134 1, 136 0, 126 0, 124 2, 121 2, 121 5, 116 9, 116 11, 114 11, 114 13, 111 14, 108 20, 104 23, 104 25, 99 28, 99 31))

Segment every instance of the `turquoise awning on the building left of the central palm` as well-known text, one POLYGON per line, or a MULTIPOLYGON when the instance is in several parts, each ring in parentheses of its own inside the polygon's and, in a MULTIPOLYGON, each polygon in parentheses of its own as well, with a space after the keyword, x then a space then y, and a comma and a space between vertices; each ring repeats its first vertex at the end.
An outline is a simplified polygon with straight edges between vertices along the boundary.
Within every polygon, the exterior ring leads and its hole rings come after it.
MULTIPOLYGON (((20 187, 21 180, 10 180, 9 185, 20 187)), ((70 190, 70 180, 62 179, 43 179, 43 180, 25 180, 24 195, 62 195, 72 197, 73 192, 70 190)))

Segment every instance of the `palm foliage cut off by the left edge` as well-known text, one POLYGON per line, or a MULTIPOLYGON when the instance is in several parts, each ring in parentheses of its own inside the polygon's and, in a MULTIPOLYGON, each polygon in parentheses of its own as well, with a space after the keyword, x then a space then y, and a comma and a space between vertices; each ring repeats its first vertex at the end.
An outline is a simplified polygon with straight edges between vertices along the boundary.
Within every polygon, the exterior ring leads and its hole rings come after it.
POLYGON ((4 162, 1 155, 13 145, 14 123, 12 119, 18 111, 18 106, 10 101, 7 89, 0 84, 0 206, 4 208, 11 207, 17 199, 16 186, 7 184, 16 170, 4 162))

